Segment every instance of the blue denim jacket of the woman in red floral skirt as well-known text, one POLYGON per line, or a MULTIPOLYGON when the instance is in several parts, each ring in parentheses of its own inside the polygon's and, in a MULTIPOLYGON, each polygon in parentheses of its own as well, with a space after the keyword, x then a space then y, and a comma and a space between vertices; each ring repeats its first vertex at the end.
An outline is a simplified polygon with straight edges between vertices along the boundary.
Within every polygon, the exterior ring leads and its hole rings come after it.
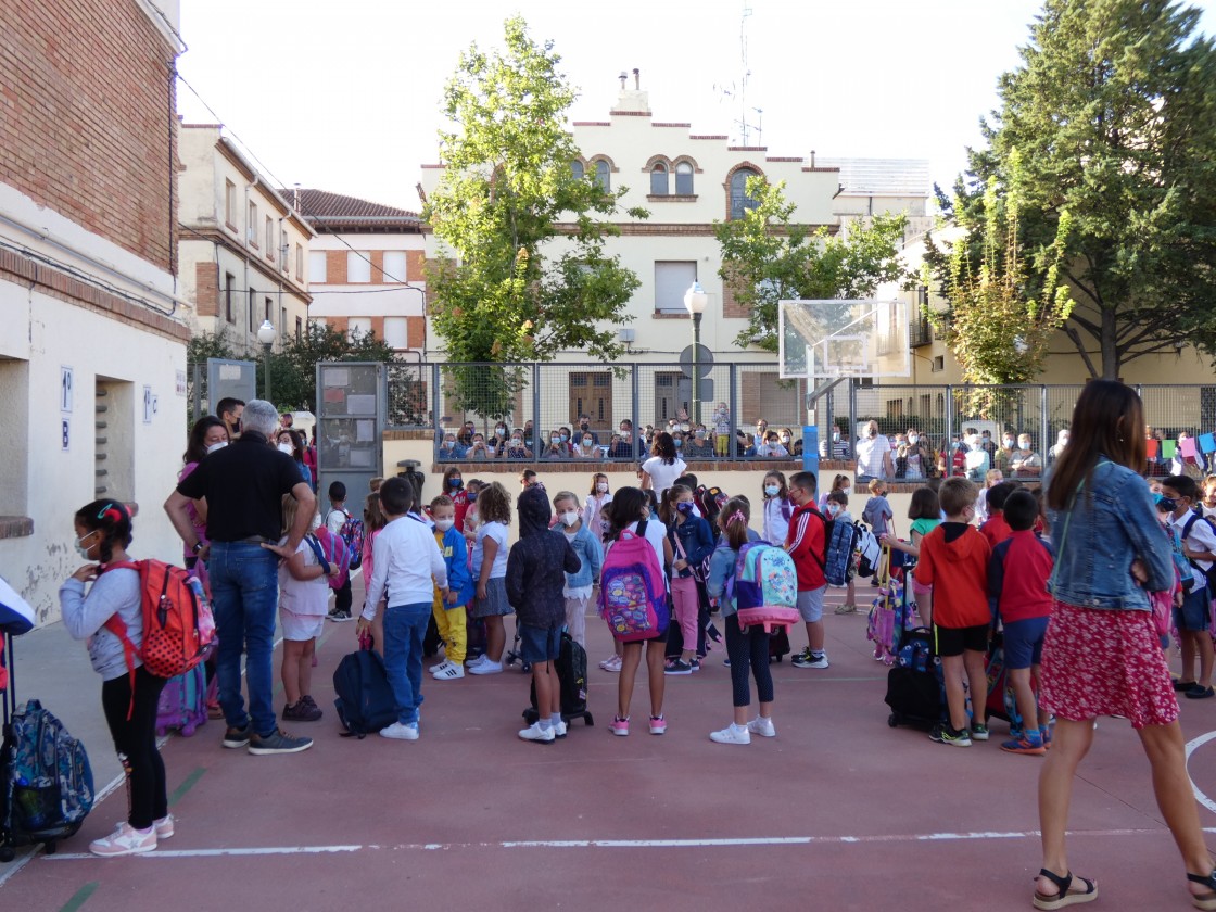
POLYGON ((1099 462, 1071 508, 1052 517, 1052 544, 1055 569, 1048 589, 1068 604, 1147 612, 1149 592, 1173 586, 1170 546, 1153 496, 1141 475, 1114 462, 1099 462), (1144 586, 1131 575, 1136 558, 1148 570, 1144 586))

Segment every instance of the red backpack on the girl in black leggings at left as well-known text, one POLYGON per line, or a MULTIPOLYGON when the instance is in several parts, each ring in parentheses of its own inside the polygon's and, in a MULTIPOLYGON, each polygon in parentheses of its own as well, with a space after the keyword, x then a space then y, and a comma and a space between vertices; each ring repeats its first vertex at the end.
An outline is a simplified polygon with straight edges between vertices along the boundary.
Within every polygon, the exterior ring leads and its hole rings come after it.
POLYGON ((157 677, 185 674, 207 658, 215 641, 215 619, 207 604, 203 584, 181 567, 163 561, 125 561, 109 564, 106 570, 118 568, 136 570, 142 592, 143 642, 139 649, 126 635, 122 618, 113 614, 106 621, 106 630, 123 641, 134 705, 136 654, 148 674, 157 677))

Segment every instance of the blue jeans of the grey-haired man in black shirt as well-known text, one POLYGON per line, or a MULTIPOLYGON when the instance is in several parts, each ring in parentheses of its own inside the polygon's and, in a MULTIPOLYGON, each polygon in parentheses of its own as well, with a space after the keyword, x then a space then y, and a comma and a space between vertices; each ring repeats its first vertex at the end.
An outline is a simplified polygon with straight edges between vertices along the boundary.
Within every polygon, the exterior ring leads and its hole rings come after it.
POLYGON ((220 638, 215 679, 220 708, 231 728, 274 733, 275 623, 278 619, 278 556, 261 545, 213 541, 207 564, 212 578, 212 609, 220 638), (241 697, 241 651, 246 653, 249 714, 241 697))

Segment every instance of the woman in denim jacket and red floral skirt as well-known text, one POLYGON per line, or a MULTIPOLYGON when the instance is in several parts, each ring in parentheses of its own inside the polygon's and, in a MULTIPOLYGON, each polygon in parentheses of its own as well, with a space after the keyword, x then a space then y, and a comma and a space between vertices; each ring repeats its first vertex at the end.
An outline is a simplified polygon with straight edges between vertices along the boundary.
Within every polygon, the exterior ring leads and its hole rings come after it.
POLYGON ((1216 871, 1199 827, 1178 703, 1149 609, 1148 592, 1172 586, 1173 565, 1139 477, 1143 427, 1141 400, 1130 387, 1086 384, 1073 411, 1069 446, 1048 480, 1047 507, 1059 537, 1040 702, 1057 721, 1038 777, 1043 867, 1036 908, 1097 897, 1092 880, 1069 871, 1064 833, 1093 720, 1118 715, 1131 721, 1152 764, 1158 806, 1182 854, 1192 905, 1216 910, 1216 871))

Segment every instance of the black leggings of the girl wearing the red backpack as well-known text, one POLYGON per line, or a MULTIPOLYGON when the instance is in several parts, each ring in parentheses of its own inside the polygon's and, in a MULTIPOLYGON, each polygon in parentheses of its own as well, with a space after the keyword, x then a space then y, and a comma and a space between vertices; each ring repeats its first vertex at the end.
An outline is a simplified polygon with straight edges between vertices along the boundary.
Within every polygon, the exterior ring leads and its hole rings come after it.
POLYGON ((101 708, 106 713, 114 749, 126 773, 126 822, 147 829, 169 812, 164 786, 164 761, 156 749, 156 709, 164 679, 135 669, 135 708, 131 710, 131 676, 123 675, 101 685, 101 708))

